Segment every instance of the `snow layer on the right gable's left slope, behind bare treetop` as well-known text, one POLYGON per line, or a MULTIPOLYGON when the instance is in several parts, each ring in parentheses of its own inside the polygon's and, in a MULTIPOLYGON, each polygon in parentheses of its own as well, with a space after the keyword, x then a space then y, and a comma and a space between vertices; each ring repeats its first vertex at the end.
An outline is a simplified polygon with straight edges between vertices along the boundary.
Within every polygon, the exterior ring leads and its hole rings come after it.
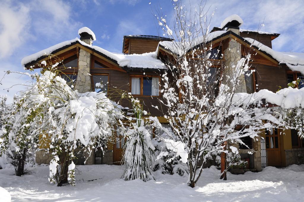
MULTIPOLYGON (((159 42, 158 46, 162 46, 165 49, 168 49, 171 51, 171 53, 177 54, 177 55, 182 55, 183 52, 188 52, 191 48, 202 44, 203 42, 211 42, 217 37, 222 36, 223 34, 227 33, 227 31, 221 30, 221 31, 214 31, 211 32, 205 36, 201 36, 196 38, 191 44, 185 44, 185 43, 180 43, 180 42, 175 42, 175 41, 161 41, 159 42), (186 47, 184 47, 186 45, 186 47)), ((158 47, 157 47, 158 50, 158 47)))

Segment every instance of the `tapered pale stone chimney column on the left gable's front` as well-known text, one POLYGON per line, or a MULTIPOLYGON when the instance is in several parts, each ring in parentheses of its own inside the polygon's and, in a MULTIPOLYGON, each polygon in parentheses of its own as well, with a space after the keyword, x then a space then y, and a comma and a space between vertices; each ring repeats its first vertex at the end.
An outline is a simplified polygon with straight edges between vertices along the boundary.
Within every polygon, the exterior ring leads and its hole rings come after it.
POLYGON ((91 54, 87 51, 79 50, 79 60, 78 60, 78 75, 76 79, 75 89, 80 93, 89 92, 92 90, 91 87, 91 54))

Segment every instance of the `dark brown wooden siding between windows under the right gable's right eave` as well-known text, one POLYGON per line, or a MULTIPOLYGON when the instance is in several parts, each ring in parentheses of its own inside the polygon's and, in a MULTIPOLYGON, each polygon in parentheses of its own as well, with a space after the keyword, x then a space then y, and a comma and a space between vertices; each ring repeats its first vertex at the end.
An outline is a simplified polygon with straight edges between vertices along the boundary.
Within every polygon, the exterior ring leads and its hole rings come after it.
POLYGON ((255 64, 252 67, 256 68, 257 91, 261 89, 268 89, 276 92, 279 87, 287 87, 286 68, 273 67, 264 64, 255 64))

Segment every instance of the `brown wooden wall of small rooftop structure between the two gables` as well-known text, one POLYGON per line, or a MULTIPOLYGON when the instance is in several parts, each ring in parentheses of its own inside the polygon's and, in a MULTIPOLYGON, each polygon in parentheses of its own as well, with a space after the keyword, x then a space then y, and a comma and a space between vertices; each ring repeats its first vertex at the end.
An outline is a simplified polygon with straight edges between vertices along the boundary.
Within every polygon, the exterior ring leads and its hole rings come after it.
POLYGON ((154 52, 157 48, 158 42, 159 40, 130 39, 129 54, 154 52))

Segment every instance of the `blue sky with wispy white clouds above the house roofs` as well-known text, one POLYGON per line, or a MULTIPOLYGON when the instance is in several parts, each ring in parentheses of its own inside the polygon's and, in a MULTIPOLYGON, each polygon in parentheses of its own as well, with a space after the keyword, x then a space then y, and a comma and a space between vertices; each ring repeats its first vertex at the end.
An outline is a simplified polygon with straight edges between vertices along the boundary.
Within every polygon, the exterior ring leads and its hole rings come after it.
MULTIPOLYGON (((200 0, 183 1, 185 6, 198 5, 200 0)), ((112 52, 122 51, 123 35, 157 35, 151 9, 161 6, 167 21, 173 7, 170 0, 2 0, 0 6, 0 77, 3 71, 23 71, 21 59, 42 49, 78 36, 78 29, 87 26, 96 35, 94 45, 112 52), (151 4, 149 5, 149 2, 151 4)), ((304 51, 304 1, 223 1, 207 0, 209 14, 216 10, 211 27, 219 26, 231 14, 244 20, 242 29, 256 30, 264 21, 261 31, 281 33, 273 40, 273 49, 304 51)), ((162 34, 162 33, 161 33, 162 34)), ((9 100, 20 86, 9 92, 2 90, 26 77, 9 75, 2 81, 0 95, 9 100)))

